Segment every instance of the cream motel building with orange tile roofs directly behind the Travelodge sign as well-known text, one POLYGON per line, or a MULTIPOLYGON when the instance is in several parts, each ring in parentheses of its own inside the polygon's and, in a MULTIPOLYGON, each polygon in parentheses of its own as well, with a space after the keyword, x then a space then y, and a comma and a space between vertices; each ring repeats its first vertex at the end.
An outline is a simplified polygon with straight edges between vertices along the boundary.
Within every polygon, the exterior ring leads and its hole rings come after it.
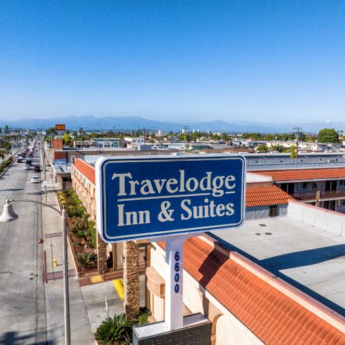
MULTIPOLYGON (((294 200, 270 175, 246 179, 244 226, 184 245, 184 314, 208 317, 211 344, 344 344, 345 215, 294 200)), ((95 184, 95 167, 77 159, 72 187, 97 221, 95 184)), ((108 273, 121 270, 122 244, 101 246, 108 273)), ((161 321, 165 243, 141 244, 139 264, 152 320, 161 321)))

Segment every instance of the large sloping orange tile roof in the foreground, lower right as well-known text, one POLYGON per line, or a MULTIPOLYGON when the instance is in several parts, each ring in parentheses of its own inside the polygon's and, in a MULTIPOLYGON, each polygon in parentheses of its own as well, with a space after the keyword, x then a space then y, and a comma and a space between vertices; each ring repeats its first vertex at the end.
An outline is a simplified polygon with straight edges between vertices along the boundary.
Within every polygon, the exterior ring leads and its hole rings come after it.
POLYGON ((265 344, 345 344, 331 323, 197 237, 184 244, 184 269, 265 344))

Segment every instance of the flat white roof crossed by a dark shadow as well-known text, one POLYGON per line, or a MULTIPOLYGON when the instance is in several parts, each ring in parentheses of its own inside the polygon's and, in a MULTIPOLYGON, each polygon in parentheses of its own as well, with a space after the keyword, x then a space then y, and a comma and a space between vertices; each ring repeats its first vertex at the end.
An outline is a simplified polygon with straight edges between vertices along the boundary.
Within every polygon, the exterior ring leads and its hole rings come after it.
POLYGON ((210 233, 219 242, 345 316, 345 237, 290 217, 210 233))

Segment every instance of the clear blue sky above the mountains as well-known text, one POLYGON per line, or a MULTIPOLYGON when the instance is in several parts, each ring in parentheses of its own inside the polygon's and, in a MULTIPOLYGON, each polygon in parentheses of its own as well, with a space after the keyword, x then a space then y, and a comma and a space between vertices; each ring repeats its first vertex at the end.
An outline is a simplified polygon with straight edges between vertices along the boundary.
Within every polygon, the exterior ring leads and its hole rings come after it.
POLYGON ((344 121, 344 1, 0 2, 0 117, 344 121))

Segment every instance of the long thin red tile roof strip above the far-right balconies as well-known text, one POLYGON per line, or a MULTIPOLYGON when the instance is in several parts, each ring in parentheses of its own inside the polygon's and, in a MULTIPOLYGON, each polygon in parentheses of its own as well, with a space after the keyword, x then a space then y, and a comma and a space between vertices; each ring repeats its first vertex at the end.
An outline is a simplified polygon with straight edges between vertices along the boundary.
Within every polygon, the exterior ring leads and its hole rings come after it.
POLYGON ((345 179, 345 168, 291 169, 255 171, 256 174, 268 175, 274 181, 296 181, 313 179, 345 179))

